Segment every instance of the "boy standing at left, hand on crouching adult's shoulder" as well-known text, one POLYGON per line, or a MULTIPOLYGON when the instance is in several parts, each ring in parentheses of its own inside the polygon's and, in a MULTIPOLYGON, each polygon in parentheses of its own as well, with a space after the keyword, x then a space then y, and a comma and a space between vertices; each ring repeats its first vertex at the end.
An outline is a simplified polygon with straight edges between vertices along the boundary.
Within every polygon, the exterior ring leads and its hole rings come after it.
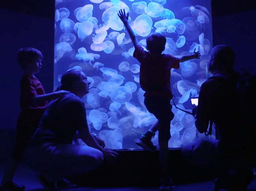
POLYGON ((13 148, 12 159, 9 160, 7 169, 3 175, 0 190, 24 190, 25 186, 13 183, 12 179, 25 152, 26 143, 34 133, 46 108, 47 102, 68 94, 68 91, 57 91, 45 94, 43 85, 35 77, 41 67, 42 53, 32 47, 18 51, 18 63, 24 70, 21 79, 20 107, 21 113, 17 121, 17 137, 13 148))

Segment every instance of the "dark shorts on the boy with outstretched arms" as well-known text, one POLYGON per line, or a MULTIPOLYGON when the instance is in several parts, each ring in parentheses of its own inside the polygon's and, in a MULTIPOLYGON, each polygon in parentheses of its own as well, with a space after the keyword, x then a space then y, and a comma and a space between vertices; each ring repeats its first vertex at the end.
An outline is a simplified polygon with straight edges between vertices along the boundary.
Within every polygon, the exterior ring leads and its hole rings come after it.
POLYGON ((171 138, 170 123, 174 117, 170 98, 145 97, 144 104, 147 110, 154 114, 159 121, 159 140, 168 141, 171 138))

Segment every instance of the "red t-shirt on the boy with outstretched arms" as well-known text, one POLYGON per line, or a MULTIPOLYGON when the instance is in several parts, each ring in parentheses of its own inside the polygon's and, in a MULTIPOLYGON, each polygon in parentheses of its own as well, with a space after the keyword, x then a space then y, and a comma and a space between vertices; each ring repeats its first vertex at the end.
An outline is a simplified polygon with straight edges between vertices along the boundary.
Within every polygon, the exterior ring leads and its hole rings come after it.
POLYGON ((180 61, 169 54, 151 54, 141 46, 133 56, 140 62, 140 86, 144 96, 172 97, 170 77, 171 68, 178 69, 180 61))

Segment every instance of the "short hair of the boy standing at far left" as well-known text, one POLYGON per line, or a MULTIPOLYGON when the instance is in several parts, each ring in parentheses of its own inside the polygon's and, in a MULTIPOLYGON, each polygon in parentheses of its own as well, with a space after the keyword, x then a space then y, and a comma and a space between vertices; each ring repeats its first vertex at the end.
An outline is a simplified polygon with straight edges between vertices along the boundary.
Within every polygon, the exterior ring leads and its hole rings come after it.
POLYGON ((25 47, 18 51, 17 58, 21 68, 24 69, 28 62, 36 60, 38 58, 42 60, 43 54, 40 52, 40 50, 33 47, 25 47))

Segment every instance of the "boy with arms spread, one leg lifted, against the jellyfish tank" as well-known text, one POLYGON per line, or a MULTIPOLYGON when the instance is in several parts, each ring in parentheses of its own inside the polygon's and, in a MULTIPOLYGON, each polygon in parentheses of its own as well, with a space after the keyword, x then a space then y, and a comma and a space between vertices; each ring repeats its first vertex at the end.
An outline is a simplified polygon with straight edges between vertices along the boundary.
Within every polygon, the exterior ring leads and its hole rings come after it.
POLYGON ((200 53, 193 52, 192 55, 175 58, 168 54, 162 54, 165 49, 166 38, 161 34, 152 34, 147 37, 146 52, 139 45, 134 32, 128 24, 129 13, 122 10, 118 14, 130 39, 134 45, 133 56, 140 62, 140 86, 145 91, 144 104, 150 113, 153 113, 158 121, 141 136, 136 142, 144 149, 154 151, 156 147, 152 144, 151 138, 155 132, 159 131, 159 154, 161 163, 161 186, 160 190, 169 190, 174 188, 172 180, 168 175, 168 140, 170 139, 170 122, 174 117, 172 113, 172 91, 170 86, 170 70, 178 69, 180 62, 185 62, 193 58, 200 58, 200 53))

